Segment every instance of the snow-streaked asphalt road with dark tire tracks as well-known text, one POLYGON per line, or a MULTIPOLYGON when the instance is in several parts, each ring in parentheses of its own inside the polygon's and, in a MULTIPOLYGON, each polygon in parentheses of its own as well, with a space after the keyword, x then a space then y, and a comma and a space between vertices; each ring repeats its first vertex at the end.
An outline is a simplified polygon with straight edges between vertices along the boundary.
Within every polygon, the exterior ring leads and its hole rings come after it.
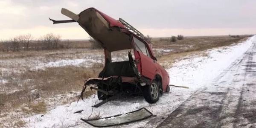
POLYGON ((157 128, 256 128, 256 42, 157 128))

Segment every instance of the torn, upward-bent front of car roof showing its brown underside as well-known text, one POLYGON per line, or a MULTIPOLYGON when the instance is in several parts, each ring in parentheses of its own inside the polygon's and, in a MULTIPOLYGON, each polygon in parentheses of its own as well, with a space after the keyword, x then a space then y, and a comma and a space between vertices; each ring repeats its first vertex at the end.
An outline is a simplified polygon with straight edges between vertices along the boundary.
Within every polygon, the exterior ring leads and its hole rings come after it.
POLYGON ((97 9, 89 8, 82 11, 77 22, 110 52, 132 48, 129 31, 125 26, 97 9))

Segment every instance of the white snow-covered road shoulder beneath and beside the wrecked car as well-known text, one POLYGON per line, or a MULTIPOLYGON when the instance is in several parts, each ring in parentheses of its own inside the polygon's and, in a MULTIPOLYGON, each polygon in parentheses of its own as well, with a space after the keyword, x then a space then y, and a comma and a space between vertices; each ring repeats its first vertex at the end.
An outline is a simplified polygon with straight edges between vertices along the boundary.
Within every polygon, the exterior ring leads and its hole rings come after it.
MULTIPOLYGON (((171 88, 170 93, 164 93, 155 104, 145 102, 143 96, 119 99, 102 105, 99 108, 91 106, 97 101, 97 96, 93 95, 84 101, 73 102, 61 105, 48 111, 44 116, 40 114, 26 118, 26 127, 29 128, 90 128, 91 126, 82 122, 80 118, 87 119, 93 109, 91 117, 113 116, 137 110, 145 107, 154 115, 166 117, 172 113, 181 103, 186 101, 195 91, 212 84, 216 76, 226 69, 230 64, 241 57, 244 52, 256 41, 256 36, 249 38, 244 43, 230 47, 221 47, 206 51, 206 56, 189 56, 173 64, 168 70, 170 84, 188 86, 189 89, 171 88), (81 113, 74 112, 83 110, 81 113)), ((236 62, 235 62, 236 63, 236 62)), ((160 122, 154 122, 154 117, 140 122, 122 125, 123 128, 156 127, 160 122)))

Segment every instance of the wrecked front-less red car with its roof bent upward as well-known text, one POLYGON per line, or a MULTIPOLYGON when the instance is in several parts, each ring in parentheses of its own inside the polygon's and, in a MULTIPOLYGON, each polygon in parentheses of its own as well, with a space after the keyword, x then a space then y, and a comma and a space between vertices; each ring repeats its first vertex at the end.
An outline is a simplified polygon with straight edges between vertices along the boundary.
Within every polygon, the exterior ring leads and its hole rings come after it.
POLYGON ((94 107, 111 99, 126 95, 143 94, 148 103, 155 103, 164 92, 169 92, 169 74, 157 63, 151 46, 133 26, 119 18, 115 20, 97 9, 89 8, 79 15, 62 9, 61 13, 73 20, 52 20, 53 23, 77 22, 99 44, 105 53, 105 67, 98 78, 90 78, 83 91, 97 90, 103 100, 94 107), (128 61, 112 62, 111 52, 128 49, 128 61))

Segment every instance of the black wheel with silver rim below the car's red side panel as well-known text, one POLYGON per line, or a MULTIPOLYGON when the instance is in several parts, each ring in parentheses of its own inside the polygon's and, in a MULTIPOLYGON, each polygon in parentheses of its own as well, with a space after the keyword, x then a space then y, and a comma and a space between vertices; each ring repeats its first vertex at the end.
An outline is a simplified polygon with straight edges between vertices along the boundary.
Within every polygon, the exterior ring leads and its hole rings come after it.
POLYGON ((150 103, 156 103, 159 100, 160 91, 157 81, 153 81, 151 85, 145 85, 142 87, 143 96, 145 100, 150 103))

